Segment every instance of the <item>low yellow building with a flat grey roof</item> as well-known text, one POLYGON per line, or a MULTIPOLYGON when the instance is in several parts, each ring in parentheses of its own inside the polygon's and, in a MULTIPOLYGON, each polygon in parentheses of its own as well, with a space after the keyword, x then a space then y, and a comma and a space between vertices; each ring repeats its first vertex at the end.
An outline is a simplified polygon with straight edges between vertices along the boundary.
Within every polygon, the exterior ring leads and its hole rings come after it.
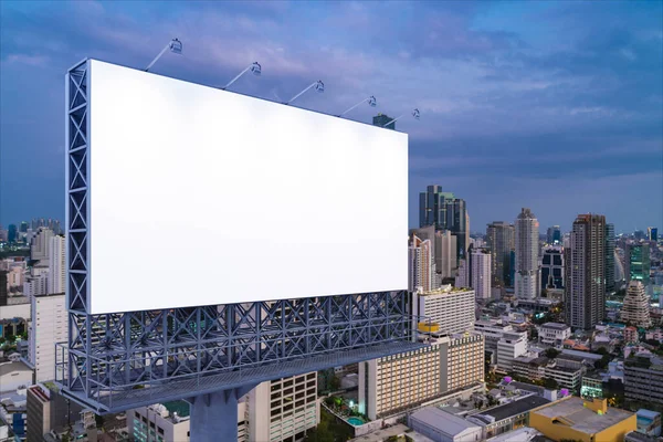
POLYGON ((638 428, 634 413, 608 408, 604 399, 565 398, 529 412, 529 427, 554 441, 622 442, 638 428))

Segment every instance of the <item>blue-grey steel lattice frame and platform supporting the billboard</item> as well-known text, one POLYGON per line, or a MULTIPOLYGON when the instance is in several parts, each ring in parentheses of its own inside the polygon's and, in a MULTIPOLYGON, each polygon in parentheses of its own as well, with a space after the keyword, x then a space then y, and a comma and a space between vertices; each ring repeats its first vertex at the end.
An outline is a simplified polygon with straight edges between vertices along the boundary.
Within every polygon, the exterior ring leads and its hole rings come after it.
POLYGON ((407 291, 90 314, 90 63, 66 75, 64 393, 98 412, 230 390, 420 347, 407 291))

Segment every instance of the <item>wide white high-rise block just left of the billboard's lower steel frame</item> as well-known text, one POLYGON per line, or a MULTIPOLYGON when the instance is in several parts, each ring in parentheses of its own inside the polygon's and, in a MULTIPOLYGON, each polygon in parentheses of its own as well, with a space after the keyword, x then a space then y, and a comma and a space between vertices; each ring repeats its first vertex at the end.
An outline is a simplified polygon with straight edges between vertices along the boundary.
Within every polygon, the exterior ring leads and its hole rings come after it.
POLYGON ((28 361, 36 382, 55 379, 55 344, 67 339, 64 294, 32 296, 28 332, 28 361))

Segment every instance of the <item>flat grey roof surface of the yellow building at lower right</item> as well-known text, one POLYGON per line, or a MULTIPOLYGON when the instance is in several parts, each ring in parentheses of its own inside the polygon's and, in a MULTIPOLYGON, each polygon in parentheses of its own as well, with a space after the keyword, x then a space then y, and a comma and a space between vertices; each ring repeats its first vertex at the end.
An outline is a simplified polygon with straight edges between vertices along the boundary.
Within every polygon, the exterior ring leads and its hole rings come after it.
POLYGON ((598 414, 589 408, 585 408, 582 399, 571 396, 535 412, 551 420, 557 419, 556 424, 558 425, 567 425, 587 434, 599 433, 633 415, 633 413, 618 408, 608 408, 606 414, 598 414))

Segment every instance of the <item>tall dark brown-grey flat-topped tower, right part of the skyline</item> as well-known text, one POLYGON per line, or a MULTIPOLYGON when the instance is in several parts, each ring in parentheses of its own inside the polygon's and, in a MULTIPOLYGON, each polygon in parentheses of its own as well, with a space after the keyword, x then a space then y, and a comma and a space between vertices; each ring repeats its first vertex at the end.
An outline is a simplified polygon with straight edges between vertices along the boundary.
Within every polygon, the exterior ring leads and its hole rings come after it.
POLYGON ((566 315, 571 327, 590 329, 606 313, 606 217, 579 214, 571 231, 566 315))

